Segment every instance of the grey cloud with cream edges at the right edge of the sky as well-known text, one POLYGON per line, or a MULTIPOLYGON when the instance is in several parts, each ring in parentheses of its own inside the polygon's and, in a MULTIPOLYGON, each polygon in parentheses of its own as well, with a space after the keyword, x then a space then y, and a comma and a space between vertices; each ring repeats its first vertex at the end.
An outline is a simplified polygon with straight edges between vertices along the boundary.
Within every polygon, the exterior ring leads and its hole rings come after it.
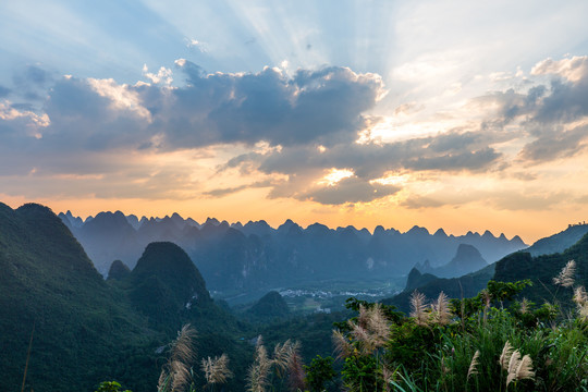
POLYGON ((539 64, 540 72, 535 69, 534 72, 552 74, 549 86, 538 85, 526 94, 510 89, 476 98, 474 101, 478 103, 498 106, 495 115, 483 121, 480 131, 491 132, 494 137, 502 137, 502 142, 517 137, 532 138, 519 152, 519 158, 530 163, 567 158, 579 152, 586 147, 588 135, 584 125, 572 124, 588 115, 587 62, 588 58, 542 62, 539 64), (503 132, 513 124, 518 127, 517 132, 503 132))

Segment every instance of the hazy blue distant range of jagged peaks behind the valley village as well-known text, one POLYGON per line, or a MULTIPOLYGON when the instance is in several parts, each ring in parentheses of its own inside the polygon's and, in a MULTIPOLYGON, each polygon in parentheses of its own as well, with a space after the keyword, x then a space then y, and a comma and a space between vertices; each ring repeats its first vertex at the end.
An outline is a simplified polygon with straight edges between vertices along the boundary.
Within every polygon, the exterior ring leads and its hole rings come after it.
POLYGON ((115 259, 133 268, 151 242, 173 242, 186 250, 215 291, 270 289, 322 279, 395 278, 422 260, 430 260, 431 268, 446 264, 461 244, 475 246, 491 261, 526 247, 518 236, 507 240, 488 231, 454 236, 442 229, 431 235, 416 225, 406 233, 378 226, 371 234, 366 229, 330 229, 320 223, 303 229, 290 219, 273 229, 262 220, 243 225, 208 218, 199 224, 177 213, 137 220, 120 211, 100 212, 81 225, 71 213, 61 218, 102 274, 115 259))

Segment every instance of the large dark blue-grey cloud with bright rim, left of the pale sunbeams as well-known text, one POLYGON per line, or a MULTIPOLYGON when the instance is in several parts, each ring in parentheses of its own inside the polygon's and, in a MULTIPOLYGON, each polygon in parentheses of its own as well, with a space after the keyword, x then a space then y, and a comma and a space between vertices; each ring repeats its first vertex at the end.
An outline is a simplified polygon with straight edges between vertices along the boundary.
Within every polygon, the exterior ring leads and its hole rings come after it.
POLYGON ((188 61, 180 64, 188 85, 173 90, 173 105, 156 119, 173 147, 350 143, 383 88, 379 77, 345 68, 299 70, 290 78, 271 68, 257 74, 204 75, 188 61))

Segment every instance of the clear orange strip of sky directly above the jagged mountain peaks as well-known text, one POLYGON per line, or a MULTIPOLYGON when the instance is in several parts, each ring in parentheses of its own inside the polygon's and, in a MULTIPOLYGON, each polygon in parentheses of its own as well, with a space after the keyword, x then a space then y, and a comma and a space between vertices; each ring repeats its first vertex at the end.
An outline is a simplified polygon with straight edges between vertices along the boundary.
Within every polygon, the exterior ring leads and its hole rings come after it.
POLYGON ((525 211, 493 210, 488 211, 483 206, 440 207, 408 209, 401 206, 372 201, 351 206, 322 206, 309 201, 293 199, 267 199, 262 189, 250 189, 238 195, 222 199, 196 200, 144 200, 144 199, 37 199, 29 200, 24 197, 14 197, 0 194, 2 203, 15 209, 25 203, 38 203, 48 206, 53 212, 71 210, 74 216, 83 219, 96 216, 101 211, 120 210, 125 215, 135 215, 138 218, 164 217, 173 212, 180 213, 184 219, 192 218, 197 222, 205 222, 207 218, 217 218, 229 223, 237 221, 245 224, 249 220, 265 220, 272 228, 278 228, 286 219, 292 219, 301 226, 319 222, 330 228, 354 225, 357 229, 366 228, 370 232, 377 225, 384 229, 396 229, 401 232, 411 230, 414 225, 426 228, 431 234, 442 228, 448 235, 463 235, 468 231, 482 234, 490 230, 495 236, 504 233, 507 238, 519 235, 527 244, 555 234, 567 228, 568 223, 581 221, 588 216, 588 210, 562 211, 525 211), (265 198, 264 203, 259 201, 265 198), (567 217, 575 216, 576 219, 567 217))

